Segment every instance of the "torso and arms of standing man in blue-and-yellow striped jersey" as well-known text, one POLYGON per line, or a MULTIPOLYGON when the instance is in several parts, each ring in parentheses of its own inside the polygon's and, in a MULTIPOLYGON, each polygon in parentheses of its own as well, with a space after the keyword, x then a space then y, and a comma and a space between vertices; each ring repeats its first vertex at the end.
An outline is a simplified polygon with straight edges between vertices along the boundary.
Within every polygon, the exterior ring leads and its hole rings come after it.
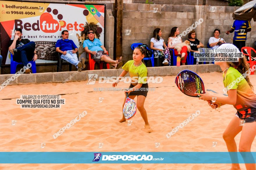
POLYGON ((241 48, 245 47, 246 34, 250 31, 250 21, 235 20, 231 30, 226 31, 226 34, 234 32, 233 44, 241 51, 241 48))

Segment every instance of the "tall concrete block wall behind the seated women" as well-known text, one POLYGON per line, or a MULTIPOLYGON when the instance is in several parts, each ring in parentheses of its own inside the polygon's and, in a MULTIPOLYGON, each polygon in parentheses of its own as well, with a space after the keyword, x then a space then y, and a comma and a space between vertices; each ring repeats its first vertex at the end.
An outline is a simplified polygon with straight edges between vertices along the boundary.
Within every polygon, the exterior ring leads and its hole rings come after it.
MULTIPOLYGON (((132 59, 132 43, 145 43, 150 45, 150 39, 155 28, 163 32, 162 38, 167 43, 171 28, 177 26, 180 33, 185 31, 195 21, 202 18, 204 21, 195 28, 196 38, 207 47, 208 40, 213 36, 214 29, 221 30, 220 37, 227 43, 232 43, 234 33, 225 34, 230 30, 234 20, 232 13, 239 7, 229 6, 197 6, 197 5, 161 5, 146 3, 124 3, 123 10, 123 60, 132 59), (154 11, 154 9, 156 9, 154 11), (131 30, 126 35, 126 30, 131 30)), ((246 46, 254 46, 256 41, 256 22, 251 21, 252 31, 247 35, 246 46)), ((188 39, 183 36, 182 40, 188 39)))

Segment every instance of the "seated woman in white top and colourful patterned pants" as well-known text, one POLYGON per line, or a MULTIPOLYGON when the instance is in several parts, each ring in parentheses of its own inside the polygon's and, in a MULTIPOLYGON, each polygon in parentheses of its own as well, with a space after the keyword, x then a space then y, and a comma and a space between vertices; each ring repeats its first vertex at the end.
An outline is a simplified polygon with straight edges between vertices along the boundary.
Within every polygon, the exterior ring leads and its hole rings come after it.
POLYGON ((170 50, 164 43, 164 40, 162 39, 162 32, 160 28, 154 29, 153 37, 150 40, 150 49, 155 50, 154 57, 156 56, 160 58, 164 58, 163 64, 165 65, 171 65, 171 56, 170 56, 170 50), (164 48, 163 48, 164 47, 164 48))

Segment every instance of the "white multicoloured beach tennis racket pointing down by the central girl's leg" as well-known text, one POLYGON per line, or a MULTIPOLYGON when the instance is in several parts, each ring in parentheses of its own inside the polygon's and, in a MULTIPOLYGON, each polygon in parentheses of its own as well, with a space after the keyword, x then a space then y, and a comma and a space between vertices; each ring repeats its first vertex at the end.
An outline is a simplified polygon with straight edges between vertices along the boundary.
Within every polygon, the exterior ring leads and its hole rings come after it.
POLYGON ((123 108, 123 114, 126 119, 131 119, 136 114, 137 106, 135 101, 129 98, 128 93, 126 93, 126 97, 127 98, 123 108))

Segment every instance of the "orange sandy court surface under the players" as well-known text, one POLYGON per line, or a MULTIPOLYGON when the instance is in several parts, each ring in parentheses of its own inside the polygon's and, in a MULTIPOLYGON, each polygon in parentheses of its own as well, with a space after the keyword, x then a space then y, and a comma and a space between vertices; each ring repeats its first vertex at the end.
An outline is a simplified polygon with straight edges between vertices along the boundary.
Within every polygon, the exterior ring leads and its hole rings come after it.
MULTIPOLYGON (((221 73, 199 74, 205 89, 221 93, 221 73)), ((182 94, 174 83, 175 76, 164 76, 145 101, 153 133, 143 131, 144 122, 138 112, 130 126, 119 123, 122 117, 124 92, 93 92, 93 87, 112 84, 86 85, 87 81, 8 86, 0 91, 0 150, 1 151, 227 151, 222 133, 236 113, 231 105, 223 111, 211 109, 206 102, 182 94), (61 109, 20 109, 16 98, 24 94, 62 94, 66 104, 61 109), (99 98, 104 98, 99 103, 99 98), (160 98, 160 100, 158 100, 160 98), (158 101, 157 101, 158 100, 158 101), (152 107, 150 105, 154 103, 152 107), (200 115, 171 138, 166 134, 195 111, 200 115), (88 114, 54 139, 52 135, 78 114, 88 114), (219 115, 226 115, 223 119, 219 115), (16 124, 12 125, 12 120, 16 124), (155 147, 159 142, 160 146, 155 147), (216 147, 212 143, 217 142, 216 147), (40 148, 45 143, 45 148, 40 148), (99 143, 104 143, 98 149, 99 143)), ((256 89, 256 75, 250 76, 256 89)), ((129 87, 123 82, 118 87, 129 87)), ((136 100, 136 99, 135 99, 136 100)), ((241 133, 235 138, 237 145, 241 133)), ((256 151, 256 142, 251 151, 256 151)), ((228 169, 230 164, 0 164, 0 169, 228 169)), ((244 164, 241 168, 245 169, 244 164)))

